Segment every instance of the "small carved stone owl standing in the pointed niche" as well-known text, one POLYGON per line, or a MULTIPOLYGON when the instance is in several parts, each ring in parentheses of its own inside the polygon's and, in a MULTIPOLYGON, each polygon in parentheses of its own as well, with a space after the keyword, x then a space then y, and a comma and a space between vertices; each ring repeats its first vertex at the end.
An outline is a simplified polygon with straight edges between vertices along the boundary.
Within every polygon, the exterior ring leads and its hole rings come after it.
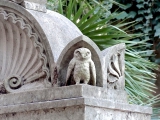
POLYGON ((87 48, 79 48, 74 51, 74 57, 70 61, 66 84, 73 71, 73 78, 77 84, 81 82, 88 84, 92 80, 92 84, 96 86, 96 69, 94 62, 91 59, 91 51, 87 48))

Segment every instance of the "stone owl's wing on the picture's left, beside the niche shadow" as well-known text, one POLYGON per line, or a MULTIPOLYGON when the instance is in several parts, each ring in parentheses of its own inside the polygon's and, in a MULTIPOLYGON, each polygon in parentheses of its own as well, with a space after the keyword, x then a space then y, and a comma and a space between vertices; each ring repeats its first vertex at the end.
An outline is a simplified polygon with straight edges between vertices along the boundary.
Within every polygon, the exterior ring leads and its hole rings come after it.
POLYGON ((69 79, 69 77, 70 77, 70 75, 71 75, 72 70, 74 69, 75 62, 76 62, 76 61, 75 61, 75 59, 73 58, 73 59, 70 61, 69 65, 68 65, 67 76, 66 76, 66 84, 67 84, 67 81, 68 81, 68 79, 69 79))

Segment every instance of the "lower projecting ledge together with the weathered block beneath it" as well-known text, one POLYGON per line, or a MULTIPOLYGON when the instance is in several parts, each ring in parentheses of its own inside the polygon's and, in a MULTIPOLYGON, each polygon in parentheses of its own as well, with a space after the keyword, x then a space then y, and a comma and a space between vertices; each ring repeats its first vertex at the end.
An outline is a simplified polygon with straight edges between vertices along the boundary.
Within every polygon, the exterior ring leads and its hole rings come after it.
POLYGON ((0 108, 2 120, 17 120, 18 118, 23 118, 23 120, 31 118, 32 120, 51 120, 52 118, 57 120, 73 120, 73 118, 74 120, 150 120, 152 113, 149 107, 89 98, 89 96, 21 103, 0 106, 0 108), (70 114, 69 118, 68 114, 70 114))

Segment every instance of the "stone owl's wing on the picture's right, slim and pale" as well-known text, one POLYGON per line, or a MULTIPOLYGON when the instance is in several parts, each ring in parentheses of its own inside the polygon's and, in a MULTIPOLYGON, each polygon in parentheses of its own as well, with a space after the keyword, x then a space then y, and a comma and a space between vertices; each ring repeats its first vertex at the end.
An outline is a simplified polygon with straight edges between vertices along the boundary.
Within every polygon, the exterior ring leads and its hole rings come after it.
POLYGON ((91 70, 93 85, 96 86, 96 68, 92 60, 90 61, 90 70, 91 70))

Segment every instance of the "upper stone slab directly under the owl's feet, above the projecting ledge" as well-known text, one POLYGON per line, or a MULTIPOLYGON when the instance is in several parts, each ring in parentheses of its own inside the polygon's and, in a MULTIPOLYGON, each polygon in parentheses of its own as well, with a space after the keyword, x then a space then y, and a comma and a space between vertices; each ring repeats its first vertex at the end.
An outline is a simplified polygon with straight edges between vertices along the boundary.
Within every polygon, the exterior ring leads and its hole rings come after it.
POLYGON ((127 103, 127 95, 124 91, 107 91, 104 88, 90 85, 73 85, 1 95, 0 106, 79 97, 108 99, 114 102, 127 103))

